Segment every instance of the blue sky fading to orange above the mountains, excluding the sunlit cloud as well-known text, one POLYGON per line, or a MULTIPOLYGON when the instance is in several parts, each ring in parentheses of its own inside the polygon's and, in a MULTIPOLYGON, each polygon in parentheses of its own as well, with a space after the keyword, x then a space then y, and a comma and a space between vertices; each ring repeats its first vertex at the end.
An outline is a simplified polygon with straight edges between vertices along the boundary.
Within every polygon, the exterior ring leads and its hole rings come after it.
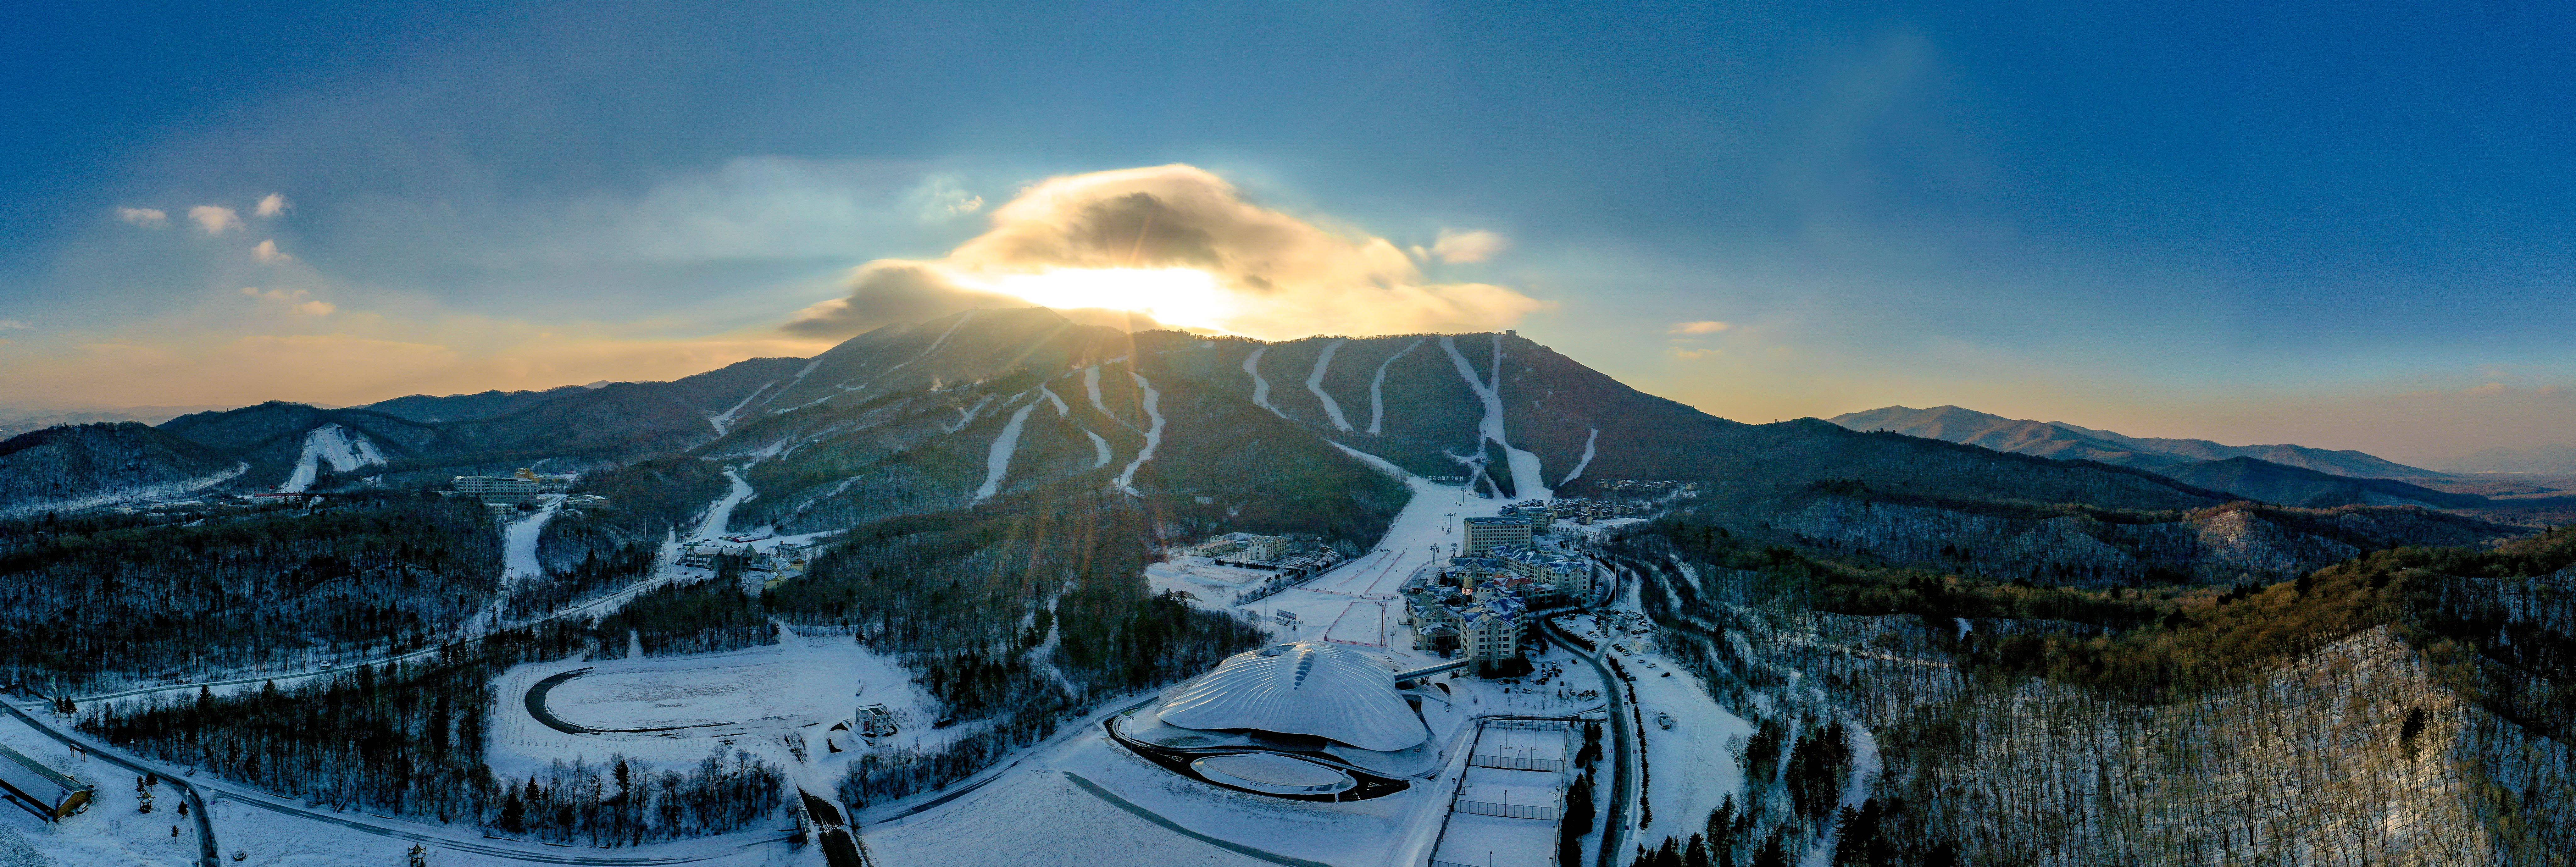
POLYGON ((2576 440, 2566 5, 5 15, 0 404, 804 352, 778 324, 853 265, 1185 162, 1396 247, 1499 234, 1425 280, 1551 304, 1522 334, 1739 419, 2576 440))

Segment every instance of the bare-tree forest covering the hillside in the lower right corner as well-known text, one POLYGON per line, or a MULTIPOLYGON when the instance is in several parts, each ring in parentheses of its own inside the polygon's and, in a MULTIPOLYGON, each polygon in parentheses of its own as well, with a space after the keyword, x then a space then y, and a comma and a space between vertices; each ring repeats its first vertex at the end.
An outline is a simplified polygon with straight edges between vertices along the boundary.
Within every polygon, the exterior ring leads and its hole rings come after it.
POLYGON ((1765 756, 1788 726, 1847 718, 1883 769, 1834 821, 1837 864, 2563 864, 2571 540, 2110 599, 1744 551, 1680 522, 1613 551, 1677 656, 1759 726, 1734 810, 1749 836, 1708 831, 1713 862, 1759 862, 1780 828, 1798 849, 1816 823, 1793 790, 1767 803, 1765 756), (1999 605, 2050 594, 2040 610, 2092 623, 1999 605), (1801 707, 1790 679, 1829 697, 1801 707))

